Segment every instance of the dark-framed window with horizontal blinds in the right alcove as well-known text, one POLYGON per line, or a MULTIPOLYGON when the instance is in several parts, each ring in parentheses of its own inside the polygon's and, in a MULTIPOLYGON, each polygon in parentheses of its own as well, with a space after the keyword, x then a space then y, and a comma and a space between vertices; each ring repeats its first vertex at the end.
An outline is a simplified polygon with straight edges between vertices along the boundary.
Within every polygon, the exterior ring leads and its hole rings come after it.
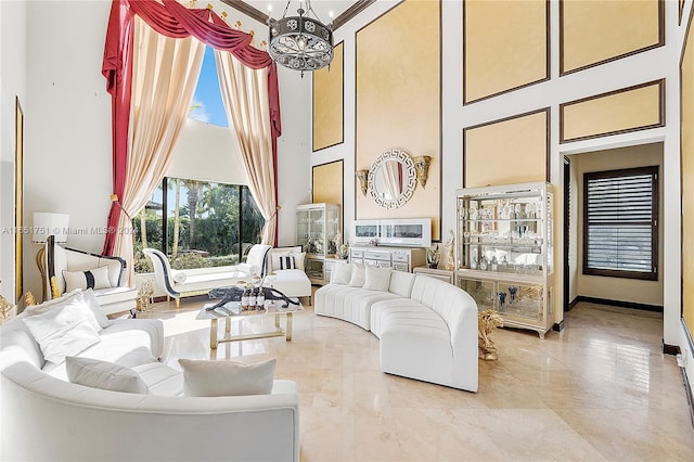
POLYGON ((583 176, 583 274, 658 279, 658 167, 583 176))

